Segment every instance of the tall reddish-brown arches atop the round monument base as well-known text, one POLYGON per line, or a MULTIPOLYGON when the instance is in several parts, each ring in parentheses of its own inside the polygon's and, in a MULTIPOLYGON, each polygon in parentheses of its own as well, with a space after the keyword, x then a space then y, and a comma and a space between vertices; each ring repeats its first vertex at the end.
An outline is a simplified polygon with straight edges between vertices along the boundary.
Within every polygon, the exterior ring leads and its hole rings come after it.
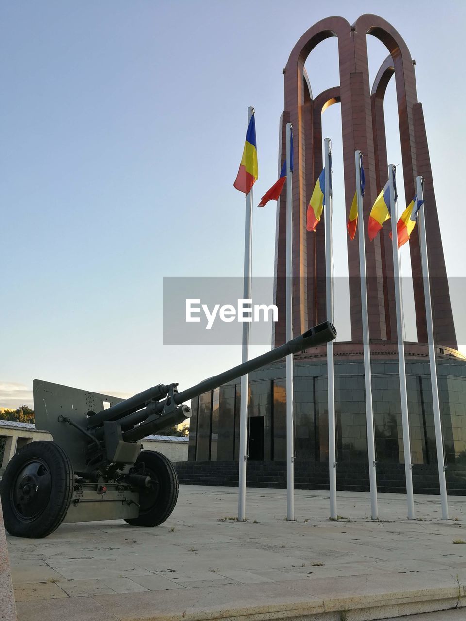
MULTIPOLYGON (((391 76, 395 75, 401 153, 406 198, 416 194, 416 176, 425 178, 427 245, 432 287, 436 343, 457 348, 444 253, 437 219, 423 106, 418 102, 413 60, 400 34, 384 19, 366 14, 353 25, 342 17, 328 17, 314 24, 296 43, 285 69, 285 110, 281 116, 280 163, 285 161, 286 123, 293 124, 295 173, 293 175, 293 333, 326 319, 326 274, 323 222, 315 233, 306 231, 306 209, 314 183, 322 170, 322 113, 339 103, 342 116, 345 203, 347 213, 354 196, 354 152, 364 154, 364 223, 387 178, 383 99, 391 76), (369 83, 367 36, 377 37, 389 53, 372 85, 369 83), (340 85, 313 96, 304 63, 314 47, 328 37, 337 37, 340 85)), ((285 253, 286 194, 278 202, 275 249, 275 303, 278 316, 275 345, 285 342, 285 253)), ((325 211, 325 210, 324 210, 325 211)), ((324 218, 322 214, 322 218, 324 218)), ((365 224, 364 224, 365 226, 365 224)), ((396 340, 393 258, 388 238, 390 227, 366 243, 368 270, 368 316, 370 338, 396 340)), ((367 231, 366 231, 367 235, 367 231)), ((427 342, 424 292, 421 278, 418 230, 409 240, 413 273, 414 302, 419 343, 427 342)), ((362 340, 357 243, 348 240, 352 340, 362 340)))

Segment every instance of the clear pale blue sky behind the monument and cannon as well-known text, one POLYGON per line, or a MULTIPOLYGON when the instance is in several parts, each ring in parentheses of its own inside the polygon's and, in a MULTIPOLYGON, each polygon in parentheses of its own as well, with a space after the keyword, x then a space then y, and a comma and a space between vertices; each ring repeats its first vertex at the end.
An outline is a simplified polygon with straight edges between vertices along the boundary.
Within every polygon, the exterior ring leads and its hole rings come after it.
MULTIPOLYGON (((391 22, 416 59, 447 270, 462 276, 463 1, 1 3, 0 407, 30 402, 34 378, 126 396, 239 363, 238 347, 162 345, 162 278, 242 274, 244 197, 232 183, 247 106, 257 111, 258 202, 276 180, 293 45, 323 17, 365 12, 391 22)), ((368 49, 373 78, 388 52, 373 37, 368 49)), ((314 95, 335 86, 337 40, 306 68, 314 95)), ((393 80, 386 125, 388 159, 401 163, 393 80)), ((324 114, 324 134, 343 275, 339 106, 324 114)), ((258 276, 273 274, 275 211, 254 211, 258 276)))

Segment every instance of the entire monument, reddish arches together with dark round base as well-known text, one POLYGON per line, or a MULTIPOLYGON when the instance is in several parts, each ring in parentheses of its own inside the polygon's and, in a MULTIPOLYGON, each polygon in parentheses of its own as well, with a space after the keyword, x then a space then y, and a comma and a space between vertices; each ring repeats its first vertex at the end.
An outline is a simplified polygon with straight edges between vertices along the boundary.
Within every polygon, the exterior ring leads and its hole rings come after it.
MULTIPOLYGON (((383 100, 394 75, 398 99, 406 199, 416 194, 423 175, 427 253, 431 277, 434 342, 440 393, 447 487, 466 494, 466 361, 457 351, 444 253, 437 217, 423 107, 418 102, 414 66, 408 47, 381 17, 367 14, 350 25, 342 17, 314 24, 293 48, 285 69, 285 110, 281 115, 280 168, 285 161, 286 124, 293 124, 293 333, 326 317, 324 225, 306 231, 306 211, 322 170, 322 113, 339 103, 342 115, 346 215, 355 192, 355 150, 364 156, 364 214, 367 236, 370 209, 388 177, 383 100), (367 36, 385 44, 388 57, 374 83, 369 82, 367 36), (340 84, 313 96, 304 68, 316 45, 337 37, 340 84), (427 209, 428 207, 428 209, 427 209)), ((280 170, 279 168, 279 170, 280 170)), ((337 208, 337 206, 336 206, 337 208)), ((322 214, 322 218, 325 217, 322 214)), ((367 242, 368 320, 377 485, 380 491, 404 492, 404 446, 396 343, 393 254, 383 227, 367 242)), ((427 353, 426 313, 419 256, 418 227, 409 239, 418 341, 404 344, 409 435, 414 492, 438 493, 436 433, 427 353)), ((352 340, 335 345, 337 484, 339 489, 368 489, 367 421, 362 360, 362 316, 358 244, 348 240, 352 340)), ((285 342, 286 189, 277 205, 275 287, 278 322, 273 345, 285 342), (281 319, 280 319, 281 318, 281 319)), ((337 326, 338 329, 338 326, 337 326)), ((329 434, 326 348, 294 356, 293 418, 295 487, 328 489, 329 434)), ((285 365, 275 363, 249 375, 248 467, 250 485, 285 487, 285 365)), ((178 464, 185 483, 237 484, 240 382, 233 381, 193 400, 189 461, 178 464)))

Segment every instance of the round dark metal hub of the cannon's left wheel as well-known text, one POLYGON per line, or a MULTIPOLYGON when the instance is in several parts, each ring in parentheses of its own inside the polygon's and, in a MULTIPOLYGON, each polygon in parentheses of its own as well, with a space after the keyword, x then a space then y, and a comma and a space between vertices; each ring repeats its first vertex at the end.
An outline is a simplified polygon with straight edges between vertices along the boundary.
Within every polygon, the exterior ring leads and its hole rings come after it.
POLYGON ((11 488, 12 507, 18 519, 33 520, 47 506, 52 490, 50 470, 40 459, 27 462, 11 488))

